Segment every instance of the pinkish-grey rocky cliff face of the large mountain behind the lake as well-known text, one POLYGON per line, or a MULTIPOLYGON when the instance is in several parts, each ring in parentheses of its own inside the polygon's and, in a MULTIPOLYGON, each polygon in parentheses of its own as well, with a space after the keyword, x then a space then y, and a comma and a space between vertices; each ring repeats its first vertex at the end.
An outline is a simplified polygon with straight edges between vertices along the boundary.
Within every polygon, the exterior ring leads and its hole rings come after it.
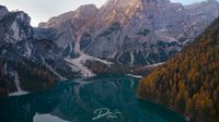
POLYGON ((39 28, 68 29, 57 41, 64 49, 70 47, 70 52, 78 42, 92 57, 148 65, 165 61, 198 36, 219 15, 219 3, 209 0, 184 7, 170 0, 108 0, 101 9, 85 5, 70 13, 39 28))

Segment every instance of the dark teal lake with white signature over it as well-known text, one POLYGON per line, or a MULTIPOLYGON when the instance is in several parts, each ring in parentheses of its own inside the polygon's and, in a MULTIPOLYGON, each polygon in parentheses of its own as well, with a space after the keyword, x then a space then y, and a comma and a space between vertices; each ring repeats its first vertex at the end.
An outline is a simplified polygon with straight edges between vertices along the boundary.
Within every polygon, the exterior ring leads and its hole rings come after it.
POLYGON ((137 99, 138 78, 73 78, 54 88, 0 98, 1 122, 185 122, 163 106, 137 99))

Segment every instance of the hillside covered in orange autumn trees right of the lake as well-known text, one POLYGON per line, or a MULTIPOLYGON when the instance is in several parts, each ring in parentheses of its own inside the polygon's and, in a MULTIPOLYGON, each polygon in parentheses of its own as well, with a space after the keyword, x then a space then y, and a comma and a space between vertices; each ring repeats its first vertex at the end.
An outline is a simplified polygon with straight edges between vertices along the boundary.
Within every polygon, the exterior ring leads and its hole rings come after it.
POLYGON ((219 19, 195 41, 142 78, 138 95, 184 113, 192 122, 219 121, 219 19))

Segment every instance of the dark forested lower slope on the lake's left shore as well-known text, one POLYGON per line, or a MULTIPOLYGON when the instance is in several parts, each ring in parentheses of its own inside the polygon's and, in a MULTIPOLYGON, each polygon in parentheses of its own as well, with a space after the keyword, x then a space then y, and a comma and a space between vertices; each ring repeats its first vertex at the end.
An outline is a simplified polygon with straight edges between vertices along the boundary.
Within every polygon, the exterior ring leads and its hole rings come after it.
POLYGON ((59 81, 44 65, 33 63, 27 59, 22 59, 22 61, 23 63, 8 60, 8 65, 5 65, 5 60, 0 58, 0 96, 5 96, 18 90, 14 83, 15 77, 12 75, 13 72, 10 71, 12 68, 18 71, 21 88, 24 90, 34 91, 47 89, 59 81), (10 75, 7 75, 7 72, 10 72, 10 75))

